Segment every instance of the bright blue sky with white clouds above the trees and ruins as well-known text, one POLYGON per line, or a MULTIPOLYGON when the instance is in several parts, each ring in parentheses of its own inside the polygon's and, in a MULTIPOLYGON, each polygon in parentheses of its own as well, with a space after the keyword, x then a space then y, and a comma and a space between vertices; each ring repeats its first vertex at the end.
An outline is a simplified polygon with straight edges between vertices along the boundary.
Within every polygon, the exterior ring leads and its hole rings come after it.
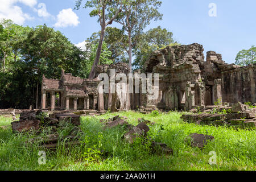
MULTIPOLYGON (((205 52, 221 53, 226 63, 234 63, 238 51, 256 45, 255 0, 162 1, 163 20, 151 22, 146 30, 167 28, 179 43, 203 44, 205 52), (209 16, 210 3, 216 4, 217 16, 209 16)), ((31 27, 46 23, 79 44, 99 31, 100 25, 97 18, 90 18, 88 9, 74 7, 75 0, 0 0, 0 18, 31 27)))

